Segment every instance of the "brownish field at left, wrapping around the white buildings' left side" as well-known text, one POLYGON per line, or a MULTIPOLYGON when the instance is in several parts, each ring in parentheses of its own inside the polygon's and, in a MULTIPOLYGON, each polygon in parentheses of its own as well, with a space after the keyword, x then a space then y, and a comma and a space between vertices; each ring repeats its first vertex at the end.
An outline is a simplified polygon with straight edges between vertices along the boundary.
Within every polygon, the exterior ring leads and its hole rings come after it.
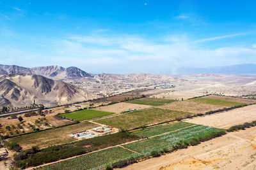
POLYGON ((68 125, 65 127, 10 138, 8 141, 18 143, 23 149, 31 148, 31 146, 39 146, 40 148, 44 148, 51 145, 61 145, 76 141, 77 139, 71 137, 70 134, 73 132, 85 131, 98 126, 99 125, 92 124, 90 122, 81 122, 79 124, 68 125))

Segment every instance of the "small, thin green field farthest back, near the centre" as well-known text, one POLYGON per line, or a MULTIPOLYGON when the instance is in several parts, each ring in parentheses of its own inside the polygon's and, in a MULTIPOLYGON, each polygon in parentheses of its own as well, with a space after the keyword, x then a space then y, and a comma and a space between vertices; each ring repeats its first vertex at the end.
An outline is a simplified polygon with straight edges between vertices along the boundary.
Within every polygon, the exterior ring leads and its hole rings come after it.
POLYGON ((156 98, 141 98, 141 99, 135 99, 132 101, 127 101, 127 103, 133 103, 133 104, 145 104, 145 105, 151 105, 151 106, 161 106, 166 103, 172 103, 175 100, 169 100, 169 99, 156 99, 156 98))

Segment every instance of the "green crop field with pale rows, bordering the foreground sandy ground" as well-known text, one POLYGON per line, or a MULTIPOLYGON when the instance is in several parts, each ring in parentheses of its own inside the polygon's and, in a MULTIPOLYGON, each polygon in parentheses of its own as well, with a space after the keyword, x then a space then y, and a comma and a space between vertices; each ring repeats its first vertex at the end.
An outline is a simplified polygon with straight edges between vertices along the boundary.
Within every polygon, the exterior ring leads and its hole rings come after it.
POLYGON ((152 150, 159 152, 163 148, 172 148, 172 146, 177 142, 189 141, 192 138, 205 136, 206 134, 211 134, 211 132, 218 130, 219 129, 204 125, 195 125, 186 129, 181 129, 180 131, 170 132, 168 134, 146 139, 144 141, 130 143, 124 145, 124 147, 139 152, 143 155, 150 155, 152 150))

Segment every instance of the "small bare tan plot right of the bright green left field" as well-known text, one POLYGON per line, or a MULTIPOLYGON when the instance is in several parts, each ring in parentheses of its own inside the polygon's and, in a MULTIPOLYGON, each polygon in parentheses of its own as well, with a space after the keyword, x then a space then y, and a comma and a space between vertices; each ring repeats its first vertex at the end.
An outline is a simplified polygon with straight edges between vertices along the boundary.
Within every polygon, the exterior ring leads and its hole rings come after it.
POLYGON ((102 106, 99 108, 95 108, 95 110, 121 113, 122 111, 126 111, 126 110, 133 110, 133 109, 142 110, 150 107, 152 106, 143 105, 143 104, 132 104, 132 103, 116 103, 109 106, 102 106))

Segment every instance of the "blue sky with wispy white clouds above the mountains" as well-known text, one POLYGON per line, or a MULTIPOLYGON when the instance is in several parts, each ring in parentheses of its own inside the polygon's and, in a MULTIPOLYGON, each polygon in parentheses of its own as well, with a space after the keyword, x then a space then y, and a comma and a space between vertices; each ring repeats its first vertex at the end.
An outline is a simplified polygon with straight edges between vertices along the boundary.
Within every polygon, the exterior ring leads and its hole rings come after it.
POLYGON ((256 1, 0 0, 0 64, 175 74, 256 64, 256 1))

